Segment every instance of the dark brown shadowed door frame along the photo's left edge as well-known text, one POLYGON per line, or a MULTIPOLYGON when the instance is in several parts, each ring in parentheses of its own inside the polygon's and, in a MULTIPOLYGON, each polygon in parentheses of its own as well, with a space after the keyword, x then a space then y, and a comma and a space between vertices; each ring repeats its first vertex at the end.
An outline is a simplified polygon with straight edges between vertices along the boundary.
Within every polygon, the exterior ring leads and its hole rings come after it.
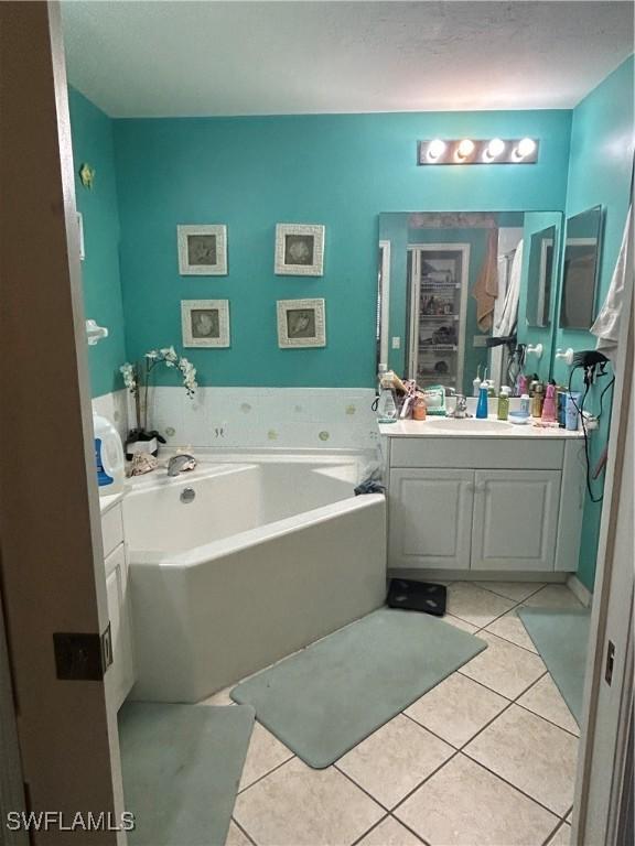
POLYGON ((103 677, 63 677, 54 640, 100 644, 108 626, 58 2, 1 2, 0 61, 0 337, 11 354, 0 371, 0 589, 13 686, 0 731, 17 736, 22 769, 3 801, 20 803, 19 777, 28 812, 58 815, 30 831, 32 846, 121 845, 117 715, 103 677), (68 837, 78 811, 103 827, 68 837))

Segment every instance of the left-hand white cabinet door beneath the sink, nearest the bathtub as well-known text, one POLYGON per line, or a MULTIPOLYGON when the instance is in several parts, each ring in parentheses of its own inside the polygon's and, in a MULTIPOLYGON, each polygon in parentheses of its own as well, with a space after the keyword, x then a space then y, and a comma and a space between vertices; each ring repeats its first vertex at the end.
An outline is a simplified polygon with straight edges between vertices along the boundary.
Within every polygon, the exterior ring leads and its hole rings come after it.
POLYGON ((469 570, 474 470, 390 471, 388 565, 469 570))

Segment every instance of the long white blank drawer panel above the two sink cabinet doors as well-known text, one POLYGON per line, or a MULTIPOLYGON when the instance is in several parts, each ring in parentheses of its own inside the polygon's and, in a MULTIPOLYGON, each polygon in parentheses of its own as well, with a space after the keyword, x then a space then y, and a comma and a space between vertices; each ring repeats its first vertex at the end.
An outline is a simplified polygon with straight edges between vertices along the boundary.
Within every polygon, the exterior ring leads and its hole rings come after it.
POLYGON ((391 437, 390 467, 558 470, 563 441, 499 437, 391 437))

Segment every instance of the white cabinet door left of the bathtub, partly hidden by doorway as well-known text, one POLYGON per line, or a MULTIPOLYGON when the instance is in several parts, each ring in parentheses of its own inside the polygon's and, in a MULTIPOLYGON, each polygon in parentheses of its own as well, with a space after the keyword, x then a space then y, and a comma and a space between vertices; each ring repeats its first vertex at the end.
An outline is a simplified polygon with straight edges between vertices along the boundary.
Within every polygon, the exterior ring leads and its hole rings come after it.
POLYGON ((134 682, 132 634, 128 610, 128 568, 123 544, 120 544, 106 558, 106 596, 112 642, 112 665, 106 673, 106 680, 115 707, 119 709, 134 682))

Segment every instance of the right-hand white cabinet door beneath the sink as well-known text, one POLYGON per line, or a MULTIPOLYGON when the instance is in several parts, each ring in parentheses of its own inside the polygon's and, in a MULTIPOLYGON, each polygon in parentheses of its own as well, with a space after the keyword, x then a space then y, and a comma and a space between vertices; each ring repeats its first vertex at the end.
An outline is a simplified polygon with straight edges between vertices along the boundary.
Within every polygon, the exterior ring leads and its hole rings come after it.
POLYGON ((476 470, 472 570, 555 568, 559 470, 476 470))

